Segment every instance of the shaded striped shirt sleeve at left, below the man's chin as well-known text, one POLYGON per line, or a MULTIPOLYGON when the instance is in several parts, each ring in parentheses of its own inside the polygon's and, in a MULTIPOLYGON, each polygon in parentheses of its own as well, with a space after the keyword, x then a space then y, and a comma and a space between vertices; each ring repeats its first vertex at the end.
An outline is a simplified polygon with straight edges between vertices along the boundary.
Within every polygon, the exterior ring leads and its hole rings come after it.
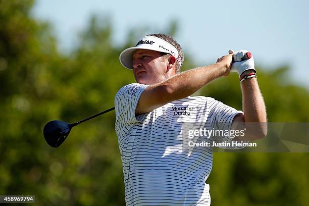
POLYGON ((115 96, 116 122, 121 125, 130 125, 141 121, 136 118, 135 109, 144 89, 149 86, 145 84, 128 84, 123 86, 115 96))

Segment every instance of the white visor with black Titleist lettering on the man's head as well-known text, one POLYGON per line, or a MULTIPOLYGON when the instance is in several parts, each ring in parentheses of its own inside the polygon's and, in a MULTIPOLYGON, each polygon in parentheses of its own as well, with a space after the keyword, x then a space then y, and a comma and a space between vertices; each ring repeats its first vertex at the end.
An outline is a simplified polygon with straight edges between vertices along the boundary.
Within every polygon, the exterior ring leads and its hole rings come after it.
POLYGON ((138 41, 135 47, 127 48, 120 54, 119 60, 122 66, 128 69, 133 69, 132 57, 136 49, 149 49, 164 52, 175 56, 179 66, 182 64, 181 58, 178 55, 178 50, 172 44, 156 36, 144 36, 138 41))

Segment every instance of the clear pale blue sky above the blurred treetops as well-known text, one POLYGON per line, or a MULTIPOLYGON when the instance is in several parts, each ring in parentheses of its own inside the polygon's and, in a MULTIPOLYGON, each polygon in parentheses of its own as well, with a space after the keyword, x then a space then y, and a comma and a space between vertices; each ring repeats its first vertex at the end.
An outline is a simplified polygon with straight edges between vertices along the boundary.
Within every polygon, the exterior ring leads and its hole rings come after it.
POLYGON ((148 28, 141 33, 142 37, 167 31, 171 21, 176 20, 179 28, 175 38, 198 66, 215 63, 230 48, 246 49, 258 67, 274 69, 289 65, 294 83, 309 89, 308 8, 309 1, 305 0, 37 0, 32 13, 53 25, 64 52, 78 44, 78 34, 93 14, 111 18, 116 46, 124 43, 132 28, 148 28))

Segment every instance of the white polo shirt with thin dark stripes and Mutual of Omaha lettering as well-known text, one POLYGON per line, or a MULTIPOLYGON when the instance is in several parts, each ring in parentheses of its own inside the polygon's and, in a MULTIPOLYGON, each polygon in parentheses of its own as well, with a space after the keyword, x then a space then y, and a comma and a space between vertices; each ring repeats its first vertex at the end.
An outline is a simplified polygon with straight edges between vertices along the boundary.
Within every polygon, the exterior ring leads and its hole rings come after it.
POLYGON ((235 115, 242 112, 211 97, 189 96, 135 116, 147 86, 129 84, 115 96, 126 204, 210 205, 205 181, 212 170, 212 150, 184 150, 182 126, 194 123, 195 129, 230 129, 235 115))

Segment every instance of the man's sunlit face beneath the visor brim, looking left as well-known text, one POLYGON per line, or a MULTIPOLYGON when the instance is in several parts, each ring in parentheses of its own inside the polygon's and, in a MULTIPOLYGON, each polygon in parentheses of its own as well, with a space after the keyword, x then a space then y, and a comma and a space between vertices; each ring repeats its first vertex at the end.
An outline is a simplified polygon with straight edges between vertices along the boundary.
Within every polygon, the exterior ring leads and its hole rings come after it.
POLYGON ((155 84, 170 78, 168 58, 160 52, 148 49, 136 49, 133 58, 133 74, 137 83, 155 84))

